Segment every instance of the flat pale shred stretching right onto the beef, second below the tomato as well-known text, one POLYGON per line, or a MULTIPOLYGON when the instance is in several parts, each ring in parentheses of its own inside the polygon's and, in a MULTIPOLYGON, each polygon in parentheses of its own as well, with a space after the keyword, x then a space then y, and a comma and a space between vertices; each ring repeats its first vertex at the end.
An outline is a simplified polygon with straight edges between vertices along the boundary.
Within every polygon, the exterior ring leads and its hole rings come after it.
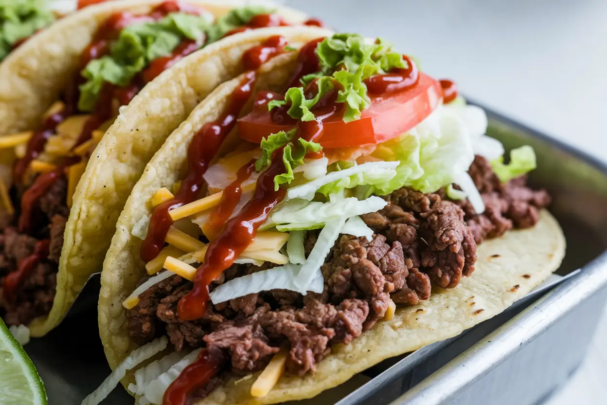
MULTIPOLYGON (((305 200, 304 200, 305 201, 305 200)), ((293 230, 313 230, 322 228, 327 222, 341 217, 353 217, 367 213, 375 213, 387 205, 384 199, 371 196, 365 200, 356 197, 332 198, 329 202, 310 202, 299 211, 279 209, 272 214, 271 220, 276 229, 285 232, 293 230)))

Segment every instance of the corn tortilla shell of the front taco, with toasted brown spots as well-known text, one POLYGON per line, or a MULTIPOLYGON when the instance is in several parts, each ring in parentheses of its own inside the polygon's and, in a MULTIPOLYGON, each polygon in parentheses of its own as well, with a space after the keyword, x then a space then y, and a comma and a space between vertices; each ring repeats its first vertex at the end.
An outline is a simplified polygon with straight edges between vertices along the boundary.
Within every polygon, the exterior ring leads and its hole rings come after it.
MULTIPOLYGON (((293 69, 294 56, 271 63, 271 74, 263 74, 258 87, 277 89, 293 69)), ((183 175, 188 145, 206 122, 217 119, 240 78, 226 82, 194 109, 187 121, 171 134, 148 163, 118 219, 101 274, 99 330, 112 369, 137 345, 129 338, 122 302, 146 274, 139 259, 141 240, 132 236, 135 223, 151 210, 147 202, 163 186, 171 186, 183 175), (181 173, 180 173, 181 172, 181 173)), ((231 134, 232 140, 235 139, 231 134)), ((527 230, 511 231, 478 247, 476 270, 463 277, 452 290, 437 289, 429 300, 399 308, 390 321, 379 322, 348 345, 336 345, 318 365, 316 373, 303 377, 284 375, 271 392, 254 399, 249 395, 255 378, 229 379, 200 404, 274 404, 311 398, 336 387, 356 373, 385 358, 412 352, 432 342, 458 335, 464 329, 497 315, 514 301, 541 284, 560 265, 565 237, 557 221, 542 211, 540 222, 527 230)), ((132 374, 123 380, 132 382, 132 374)))

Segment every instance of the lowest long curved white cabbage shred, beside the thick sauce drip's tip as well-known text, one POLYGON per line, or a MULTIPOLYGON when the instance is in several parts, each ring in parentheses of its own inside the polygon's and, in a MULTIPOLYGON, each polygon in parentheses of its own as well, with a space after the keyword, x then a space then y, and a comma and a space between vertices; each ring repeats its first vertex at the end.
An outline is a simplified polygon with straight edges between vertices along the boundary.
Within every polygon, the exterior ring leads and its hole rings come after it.
POLYGON ((320 282, 318 280, 313 280, 309 285, 305 286, 305 288, 296 286, 294 280, 301 268, 302 265, 285 264, 284 266, 257 271, 257 273, 237 277, 236 279, 223 283, 222 285, 217 286, 209 295, 211 296, 213 304, 220 304, 221 302, 243 297, 248 294, 277 289, 296 291, 297 293, 304 295, 307 294, 307 291, 322 293, 322 290, 324 289, 322 274, 320 274, 320 282))

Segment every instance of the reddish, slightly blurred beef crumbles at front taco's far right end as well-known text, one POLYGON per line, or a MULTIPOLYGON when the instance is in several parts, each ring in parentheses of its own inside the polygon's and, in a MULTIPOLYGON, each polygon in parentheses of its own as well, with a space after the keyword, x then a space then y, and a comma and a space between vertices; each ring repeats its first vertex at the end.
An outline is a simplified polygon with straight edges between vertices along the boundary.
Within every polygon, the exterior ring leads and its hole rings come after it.
POLYGON ((485 212, 476 214, 468 200, 455 202, 466 213, 466 223, 476 243, 487 238, 502 236, 512 228, 529 228, 539 219, 539 210, 551 199, 545 190, 532 190, 526 176, 500 182, 489 161, 476 156, 469 169, 470 177, 481 192, 485 212))

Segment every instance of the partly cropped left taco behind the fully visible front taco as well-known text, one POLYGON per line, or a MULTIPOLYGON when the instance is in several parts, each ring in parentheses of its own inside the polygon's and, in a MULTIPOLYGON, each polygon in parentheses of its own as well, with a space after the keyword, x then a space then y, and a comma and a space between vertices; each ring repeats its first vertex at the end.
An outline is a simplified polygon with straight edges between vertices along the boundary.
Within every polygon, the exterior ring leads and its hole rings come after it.
MULTIPOLYGON (((0 122, 22 132, 0 136, 10 168, 0 185, 5 323, 41 336, 61 321, 101 270, 118 215, 164 139, 214 87, 245 70, 245 50, 280 32, 258 27, 304 21, 287 9, 225 2, 105 2, 8 56, 0 122), (200 48, 191 63, 178 62, 200 48)), ((301 26, 287 38, 297 46, 326 33, 301 26)))

